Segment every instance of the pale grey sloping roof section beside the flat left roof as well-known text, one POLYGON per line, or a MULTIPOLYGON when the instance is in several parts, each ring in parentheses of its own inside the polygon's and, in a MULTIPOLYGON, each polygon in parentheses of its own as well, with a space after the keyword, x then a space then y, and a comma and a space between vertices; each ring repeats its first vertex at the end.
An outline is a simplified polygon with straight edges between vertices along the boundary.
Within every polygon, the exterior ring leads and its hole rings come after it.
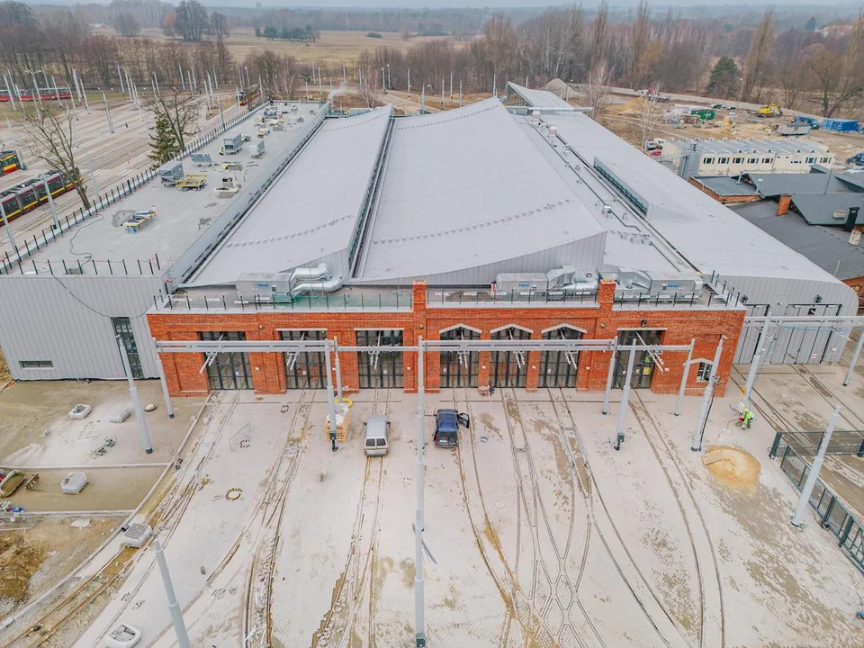
POLYGON ((388 106, 325 121, 189 285, 233 284, 245 272, 279 273, 347 255, 391 115, 388 106))

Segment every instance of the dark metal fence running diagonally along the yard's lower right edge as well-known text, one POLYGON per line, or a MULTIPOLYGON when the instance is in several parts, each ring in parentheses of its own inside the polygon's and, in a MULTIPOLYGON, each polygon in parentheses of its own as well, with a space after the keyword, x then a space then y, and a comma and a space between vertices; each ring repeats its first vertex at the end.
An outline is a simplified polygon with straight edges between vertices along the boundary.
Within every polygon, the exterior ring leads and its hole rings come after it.
MULTIPOLYGON (((780 469, 786 473, 797 490, 801 491, 810 473, 810 464, 798 455, 792 446, 786 446, 780 455, 780 469)), ((833 533, 837 544, 849 555, 851 563, 864 574, 864 528, 860 521, 852 516, 821 479, 816 480, 809 503, 819 516, 822 526, 833 533)))

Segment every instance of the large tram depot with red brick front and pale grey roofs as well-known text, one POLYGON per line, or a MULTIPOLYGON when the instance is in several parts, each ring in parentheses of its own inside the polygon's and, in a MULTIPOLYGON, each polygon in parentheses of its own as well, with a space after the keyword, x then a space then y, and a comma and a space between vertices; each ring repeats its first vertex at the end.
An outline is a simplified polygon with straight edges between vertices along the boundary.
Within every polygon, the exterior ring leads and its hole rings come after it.
MULTIPOLYGON (((856 295, 831 274, 554 94, 508 90, 521 105, 493 98, 416 117, 313 111, 227 205, 189 193, 189 205, 157 205, 158 237, 105 222, 74 247, 65 237, 43 247, 33 266, 7 267, 0 299, 15 306, 0 316, 0 345, 14 377, 119 378, 111 346, 123 331, 139 375, 164 368, 174 395, 323 388, 326 359, 320 350, 157 353, 163 342, 336 338, 367 347, 338 353, 346 391, 412 391, 416 354, 401 347, 420 336, 617 340, 611 353, 426 357, 430 391, 602 390, 625 382, 626 345, 695 341, 693 357, 706 359, 687 377, 697 393, 721 337, 719 390, 734 361, 752 358, 761 329, 746 318, 856 312, 856 295), (153 259, 154 247, 155 270, 133 261, 153 259), (58 270, 70 250, 91 255, 81 274, 58 270), (103 266, 91 261, 108 258, 136 276, 96 275, 103 266)), ((844 344, 818 327, 772 339, 770 362, 833 362, 844 344)), ((686 359, 640 351, 632 384, 677 392, 686 359)))

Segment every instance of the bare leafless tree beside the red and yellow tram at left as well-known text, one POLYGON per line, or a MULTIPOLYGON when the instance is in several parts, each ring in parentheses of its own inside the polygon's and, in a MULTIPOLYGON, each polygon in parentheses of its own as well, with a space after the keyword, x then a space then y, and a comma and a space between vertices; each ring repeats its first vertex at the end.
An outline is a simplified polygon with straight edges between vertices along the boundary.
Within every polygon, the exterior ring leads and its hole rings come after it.
MULTIPOLYGON (((69 177, 75 176, 75 135, 72 132, 72 112, 61 112, 53 104, 35 103, 23 112, 23 127, 33 143, 31 155, 52 169, 69 177)), ((75 191, 85 209, 90 209, 87 186, 78 174, 75 191)))

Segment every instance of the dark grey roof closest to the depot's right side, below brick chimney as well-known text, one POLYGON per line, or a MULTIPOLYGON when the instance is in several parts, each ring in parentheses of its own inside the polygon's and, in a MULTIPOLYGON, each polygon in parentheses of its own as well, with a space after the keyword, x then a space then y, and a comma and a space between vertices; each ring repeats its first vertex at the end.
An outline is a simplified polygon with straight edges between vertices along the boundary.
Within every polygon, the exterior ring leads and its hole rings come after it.
POLYGON ((838 279, 864 276, 864 247, 849 243, 849 232, 811 226, 801 216, 788 212, 776 215, 773 201, 750 202, 735 212, 780 242, 800 252, 816 266, 838 279))

